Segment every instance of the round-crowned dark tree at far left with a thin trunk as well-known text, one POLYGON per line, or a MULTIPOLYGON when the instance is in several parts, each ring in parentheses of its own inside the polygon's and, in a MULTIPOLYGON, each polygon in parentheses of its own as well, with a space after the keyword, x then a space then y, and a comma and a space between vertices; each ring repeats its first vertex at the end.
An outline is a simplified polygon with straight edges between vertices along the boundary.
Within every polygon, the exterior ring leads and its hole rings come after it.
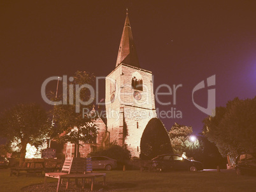
POLYGON ((38 104, 17 104, 0 116, 0 135, 20 144, 20 165, 25 161, 27 144, 40 145, 50 130, 45 109, 38 104))

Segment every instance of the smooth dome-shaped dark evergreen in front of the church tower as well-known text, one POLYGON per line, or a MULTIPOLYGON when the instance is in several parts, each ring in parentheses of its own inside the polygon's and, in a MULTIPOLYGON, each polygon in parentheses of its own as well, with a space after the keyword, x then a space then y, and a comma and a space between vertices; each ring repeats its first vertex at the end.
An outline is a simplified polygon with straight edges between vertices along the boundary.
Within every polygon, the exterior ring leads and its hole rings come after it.
POLYGON ((158 118, 148 121, 141 137, 141 159, 151 160, 159 154, 173 153, 166 128, 158 118))

